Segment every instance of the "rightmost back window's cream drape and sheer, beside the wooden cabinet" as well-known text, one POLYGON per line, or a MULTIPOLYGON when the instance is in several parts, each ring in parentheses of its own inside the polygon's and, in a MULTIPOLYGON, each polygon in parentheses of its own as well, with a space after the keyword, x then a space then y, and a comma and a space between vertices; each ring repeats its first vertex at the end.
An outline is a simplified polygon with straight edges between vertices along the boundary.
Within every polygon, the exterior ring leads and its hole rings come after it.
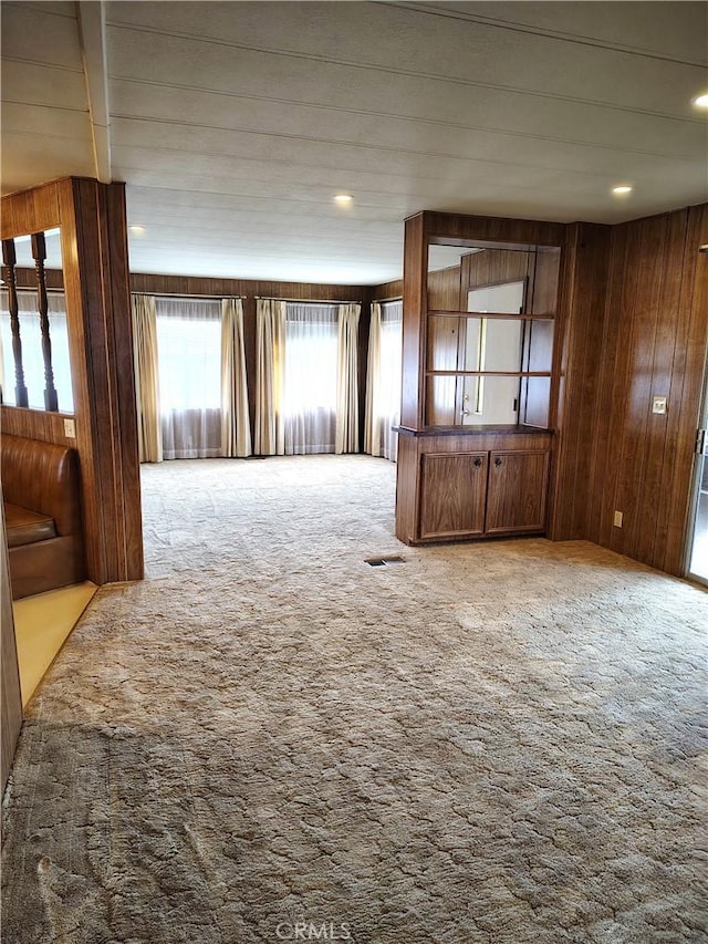
POLYGON ((374 302, 368 340, 365 450, 396 461, 400 419, 403 302, 374 302))

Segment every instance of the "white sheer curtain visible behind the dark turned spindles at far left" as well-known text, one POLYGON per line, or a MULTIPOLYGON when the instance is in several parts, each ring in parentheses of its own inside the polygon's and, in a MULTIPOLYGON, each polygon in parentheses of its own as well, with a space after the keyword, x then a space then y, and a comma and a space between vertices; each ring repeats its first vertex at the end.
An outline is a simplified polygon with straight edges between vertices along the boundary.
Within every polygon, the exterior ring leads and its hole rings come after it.
MULTIPOLYGON (((71 363, 69 359, 69 333, 66 329, 66 303, 63 292, 48 292, 49 324, 52 342, 52 372, 59 408, 62 413, 74 412, 74 397, 71 386, 71 363)), ((42 356, 42 332, 37 310, 37 292, 19 291, 18 310, 20 318, 20 340, 22 342, 22 367, 28 402, 31 409, 44 409, 44 359, 42 356)), ((0 353, 2 356, 3 403, 15 403, 14 357, 12 354, 12 332, 8 290, 0 293, 0 353)))

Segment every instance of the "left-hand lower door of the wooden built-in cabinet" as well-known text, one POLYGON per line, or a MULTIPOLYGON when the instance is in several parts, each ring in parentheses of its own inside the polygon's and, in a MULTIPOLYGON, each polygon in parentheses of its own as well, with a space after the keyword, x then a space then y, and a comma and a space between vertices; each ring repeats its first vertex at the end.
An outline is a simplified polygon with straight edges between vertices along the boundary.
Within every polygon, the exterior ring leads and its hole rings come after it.
POLYGON ((420 538, 482 535, 489 453, 421 458, 420 538))

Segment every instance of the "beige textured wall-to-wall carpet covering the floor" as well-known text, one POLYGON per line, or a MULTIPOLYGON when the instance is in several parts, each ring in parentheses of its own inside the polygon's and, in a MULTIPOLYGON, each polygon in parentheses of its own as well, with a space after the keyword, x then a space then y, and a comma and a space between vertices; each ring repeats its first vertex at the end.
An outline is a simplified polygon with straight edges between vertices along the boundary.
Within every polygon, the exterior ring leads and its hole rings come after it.
POLYGON ((144 469, 149 579, 22 732, 3 941, 706 941, 708 595, 581 542, 404 548, 394 473, 144 469))

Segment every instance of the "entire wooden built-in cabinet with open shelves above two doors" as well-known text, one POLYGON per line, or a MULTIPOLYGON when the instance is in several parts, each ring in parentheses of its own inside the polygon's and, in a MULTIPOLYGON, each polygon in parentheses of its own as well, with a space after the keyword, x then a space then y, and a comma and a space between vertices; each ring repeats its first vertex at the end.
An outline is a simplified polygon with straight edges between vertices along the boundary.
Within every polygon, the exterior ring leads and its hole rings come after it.
POLYGON ((406 221, 396 535, 544 533, 565 228, 406 221))

